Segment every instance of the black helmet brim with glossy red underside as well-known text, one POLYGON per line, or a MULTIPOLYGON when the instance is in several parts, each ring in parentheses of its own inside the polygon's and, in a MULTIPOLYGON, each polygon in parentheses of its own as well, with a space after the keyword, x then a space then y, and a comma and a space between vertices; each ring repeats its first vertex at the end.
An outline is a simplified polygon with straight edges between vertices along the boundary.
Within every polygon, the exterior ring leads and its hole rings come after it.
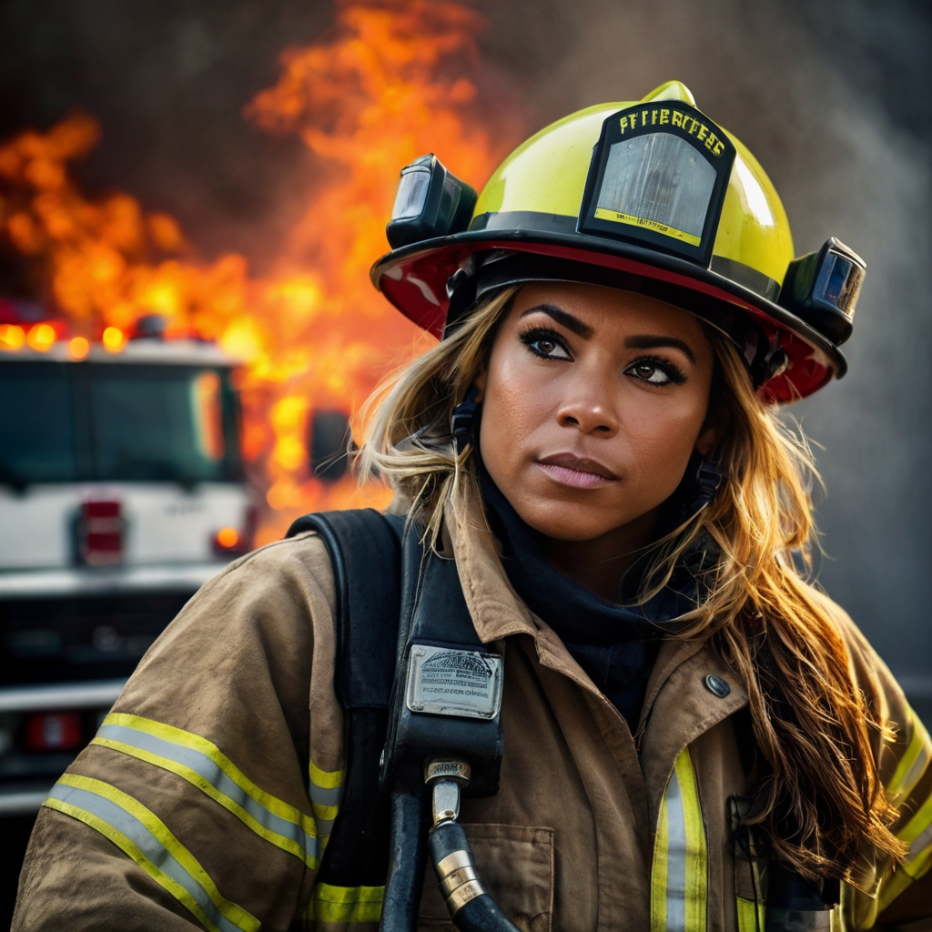
MULTIPOLYGON (((747 314, 772 345, 788 357, 785 371, 767 378, 759 393, 769 402, 791 402, 818 391, 847 370, 842 352, 827 337, 786 308, 711 269, 616 240, 559 231, 482 229, 413 243, 382 256, 372 267, 373 284, 395 308, 438 338, 449 308, 447 282, 472 257, 493 250, 526 252, 623 273, 628 291, 659 297, 699 317, 704 307, 724 306, 747 314)), ((527 281, 527 280, 525 280, 527 281)))

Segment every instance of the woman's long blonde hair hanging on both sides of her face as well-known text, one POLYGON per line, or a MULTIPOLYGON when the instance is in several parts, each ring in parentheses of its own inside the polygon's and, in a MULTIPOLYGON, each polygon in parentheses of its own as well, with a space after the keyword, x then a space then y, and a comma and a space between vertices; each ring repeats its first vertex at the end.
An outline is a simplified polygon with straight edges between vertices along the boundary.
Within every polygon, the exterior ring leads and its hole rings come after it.
MULTIPOLYGON (((487 362, 517 289, 475 308, 459 330, 387 380, 363 409, 363 479, 385 476, 435 538, 472 448, 450 417, 487 362)), ((761 782, 747 824, 803 876, 844 879, 862 844, 902 857, 871 750, 885 729, 853 678, 826 599, 807 582, 815 537, 808 447, 751 386, 731 341, 704 325, 717 359, 712 404, 727 415, 715 499, 647 555, 640 598, 659 591, 691 547, 714 541, 706 591, 677 637, 709 638, 747 688, 761 782), (795 559, 794 559, 795 557, 795 559), (802 564, 798 567, 797 563, 802 564)), ((706 548, 708 549, 708 548, 706 548)))

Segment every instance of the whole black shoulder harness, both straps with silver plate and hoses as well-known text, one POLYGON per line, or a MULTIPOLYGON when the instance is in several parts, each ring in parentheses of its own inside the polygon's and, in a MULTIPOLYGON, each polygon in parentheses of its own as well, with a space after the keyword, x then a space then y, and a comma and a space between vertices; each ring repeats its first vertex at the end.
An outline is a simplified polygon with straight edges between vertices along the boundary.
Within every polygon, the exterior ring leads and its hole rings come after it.
MULTIPOLYGON (((422 528, 404 528, 404 518, 366 509, 306 514, 287 534, 321 536, 336 585, 346 775, 317 883, 384 885, 382 932, 417 926, 431 824, 425 765, 437 753, 462 761, 472 774, 467 794, 489 796, 502 753, 500 657, 476 634, 454 560, 425 545, 422 528)), ((437 843, 452 843, 452 832, 454 853, 472 858, 459 826, 433 831, 437 843)), ((456 925, 517 932, 478 877, 473 883, 456 925)))

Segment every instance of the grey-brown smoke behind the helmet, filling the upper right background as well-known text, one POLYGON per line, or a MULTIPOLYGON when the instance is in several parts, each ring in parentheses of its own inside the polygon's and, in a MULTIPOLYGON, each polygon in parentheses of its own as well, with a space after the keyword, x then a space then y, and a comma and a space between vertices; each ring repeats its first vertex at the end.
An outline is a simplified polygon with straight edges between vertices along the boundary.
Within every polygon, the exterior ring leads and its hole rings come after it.
POLYGON ((499 7, 495 58, 542 125, 670 78, 760 159, 796 253, 837 236, 868 278, 849 374, 790 413, 816 443, 819 581, 932 698, 932 308, 925 4, 574 0, 499 7))

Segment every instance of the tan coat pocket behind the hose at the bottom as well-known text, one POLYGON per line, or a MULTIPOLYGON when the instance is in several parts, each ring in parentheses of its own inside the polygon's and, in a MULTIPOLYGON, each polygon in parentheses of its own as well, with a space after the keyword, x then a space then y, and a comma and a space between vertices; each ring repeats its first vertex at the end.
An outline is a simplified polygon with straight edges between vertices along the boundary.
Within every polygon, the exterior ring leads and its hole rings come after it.
MULTIPOLYGON (((488 892, 522 932, 550 932, 554 910, 554 829, 463 824, 488 892)), ((429 865, 418 930, 456 932, 429 865)))

